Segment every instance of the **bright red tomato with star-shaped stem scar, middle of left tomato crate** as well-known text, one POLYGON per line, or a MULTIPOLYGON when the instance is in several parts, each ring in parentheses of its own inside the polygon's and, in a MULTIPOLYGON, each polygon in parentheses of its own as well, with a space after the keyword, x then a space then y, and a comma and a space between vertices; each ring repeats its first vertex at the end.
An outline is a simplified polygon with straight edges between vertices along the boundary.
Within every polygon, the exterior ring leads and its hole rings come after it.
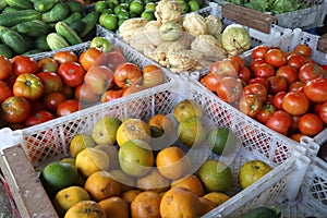
POLYGON ((83 83, 85 70, 80 63, 70 61, 60 64, 58 74, 65 85, 76 87, 83 83))

